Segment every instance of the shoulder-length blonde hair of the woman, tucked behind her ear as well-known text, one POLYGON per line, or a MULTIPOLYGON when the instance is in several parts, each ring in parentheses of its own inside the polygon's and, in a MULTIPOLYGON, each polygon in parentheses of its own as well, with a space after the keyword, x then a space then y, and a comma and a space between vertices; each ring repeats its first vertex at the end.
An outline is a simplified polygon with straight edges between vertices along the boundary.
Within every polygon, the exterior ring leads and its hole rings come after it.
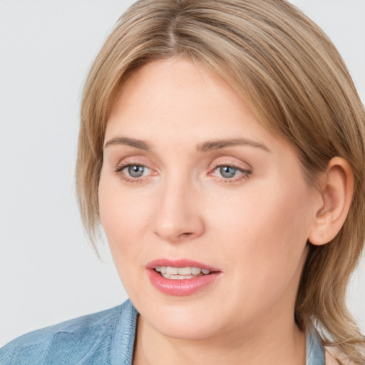
POLYGON ((92 242, 103 139, 115 98, 145 63, 179 54, 225 78, 264 125, 292 143, 309 186, 334 156, 351 164, 349 215, 327 245, 308 243, 294 314, 301 329, 317 327, 324 344, 364 364, 365 339, 345 302, 365 238, 364 106, 329 38, 287 1, 140 0, 123 14, 83 90, 76 180, 92 242))

